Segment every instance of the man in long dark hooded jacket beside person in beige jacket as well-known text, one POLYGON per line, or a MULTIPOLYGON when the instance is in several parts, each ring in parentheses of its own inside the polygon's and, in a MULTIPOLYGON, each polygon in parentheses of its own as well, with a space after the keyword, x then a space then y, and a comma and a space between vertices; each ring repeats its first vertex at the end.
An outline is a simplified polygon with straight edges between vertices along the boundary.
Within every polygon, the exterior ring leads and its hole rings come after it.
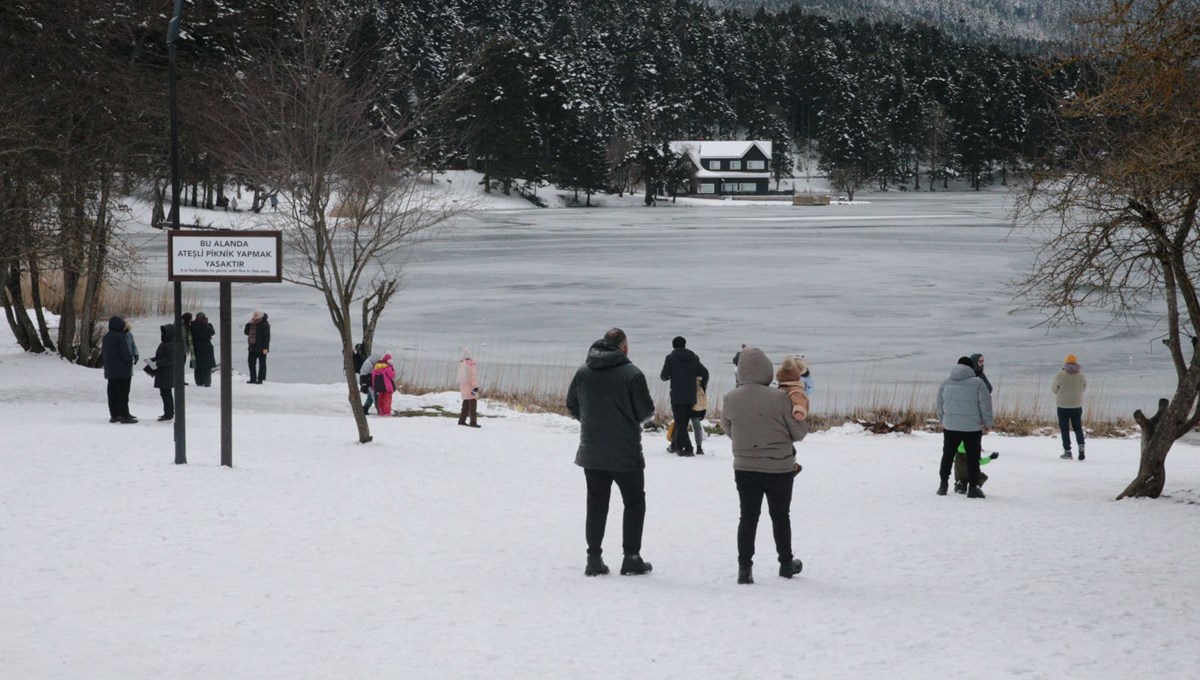
POLYGON ((580 421, 580 447, 575 464, 583 468, 588 483, 584 534, 588 541, 586 576, 608 573, 604 564, 605 525, 613 482, 625 504, 622 574, 650 572, 642 560, 642 525, 646 520, 646 457, 642 423, 654 416, 654 399, 642 374, 629 360, 625 331, 611 329, 592 343, 583 366, 566 391, 566 410, 580 421))

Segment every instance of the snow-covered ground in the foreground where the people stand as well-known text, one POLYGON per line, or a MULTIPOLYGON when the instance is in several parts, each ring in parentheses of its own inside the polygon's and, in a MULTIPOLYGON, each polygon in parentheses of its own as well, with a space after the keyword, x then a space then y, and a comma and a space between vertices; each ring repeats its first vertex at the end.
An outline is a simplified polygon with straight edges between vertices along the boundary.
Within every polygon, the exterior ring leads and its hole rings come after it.
POLYGON ((1195 445, 1169 498, 1114 503, 1135 441, 1079 463, 989 435, 977 501, 934 494, 937 435, 812 434, 804 572, 774 576, 764 517, 739 586, 728 441, 684 459, 647 434, 654 573, 584 578, 572 421, 485 403, 479 431, 374 419, 358 445, 342 386, 233 387, 235 467, 218 387, 188 390, 176 467, 145 377, 142 422, 109 425, 98 372, 0 350, 0 676, 1200 678, 1195 445))

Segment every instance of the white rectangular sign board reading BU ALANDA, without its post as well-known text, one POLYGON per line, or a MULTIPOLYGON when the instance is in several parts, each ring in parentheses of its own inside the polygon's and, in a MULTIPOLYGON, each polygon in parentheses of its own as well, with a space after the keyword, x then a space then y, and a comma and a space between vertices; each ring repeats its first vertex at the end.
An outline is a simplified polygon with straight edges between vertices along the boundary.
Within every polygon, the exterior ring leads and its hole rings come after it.
POLYGON ((169 281, 282 279, 278 231, 168 231, 169 281))

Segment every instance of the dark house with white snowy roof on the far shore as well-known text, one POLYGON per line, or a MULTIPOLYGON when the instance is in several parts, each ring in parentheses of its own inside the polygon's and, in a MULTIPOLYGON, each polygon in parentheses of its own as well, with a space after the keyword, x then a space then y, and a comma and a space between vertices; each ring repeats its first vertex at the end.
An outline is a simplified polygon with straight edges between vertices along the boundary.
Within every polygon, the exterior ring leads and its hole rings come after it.
POLYGON ((770 142, 672 142, 690 170, 688 193, 763 194, 770 188, 770 142))

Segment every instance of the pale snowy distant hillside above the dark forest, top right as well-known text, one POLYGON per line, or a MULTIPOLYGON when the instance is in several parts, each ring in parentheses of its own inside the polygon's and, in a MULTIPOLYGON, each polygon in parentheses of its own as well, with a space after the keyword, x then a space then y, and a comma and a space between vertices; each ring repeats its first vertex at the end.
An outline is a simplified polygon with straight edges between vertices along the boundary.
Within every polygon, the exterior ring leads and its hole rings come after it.
MULTIPOLYGON (((1074 19, 1093 12, 1094 0, 706 0, 709 5, 754 12, 802 7, 833 19, 913 24, 925 22, 958 37, 1064 42, 1074 19)), ((1190 1, 1190 0, 1189 0, 1190 1)))

